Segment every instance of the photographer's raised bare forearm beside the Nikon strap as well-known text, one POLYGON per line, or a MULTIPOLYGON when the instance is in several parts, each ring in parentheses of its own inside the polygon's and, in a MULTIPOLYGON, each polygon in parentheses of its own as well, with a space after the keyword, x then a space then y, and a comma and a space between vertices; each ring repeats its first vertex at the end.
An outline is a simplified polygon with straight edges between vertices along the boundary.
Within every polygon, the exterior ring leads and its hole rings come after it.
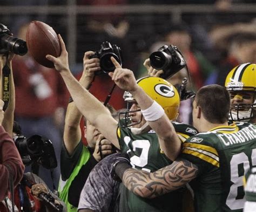
POLYGON ((15 87, 14 87, 14 76, 12 73, 12 65, 11 65, 11 60, 13 57, 14 57, 14 53, 11 53, 11 52, 9 53, 8 58, 6 58, 5 55, 1 55, 1 71, 5 64, 7 64, 8 67, 10 68, 10 100, 9 100, 8 107, 5 110, 4 120, 2 123, 5 131, 8 132, 10 136, 12 136, 12 127, 14 125, 14 110, 15 110, 15 87), (6 63, 6 59, 7 59, 7 63, 6 63))

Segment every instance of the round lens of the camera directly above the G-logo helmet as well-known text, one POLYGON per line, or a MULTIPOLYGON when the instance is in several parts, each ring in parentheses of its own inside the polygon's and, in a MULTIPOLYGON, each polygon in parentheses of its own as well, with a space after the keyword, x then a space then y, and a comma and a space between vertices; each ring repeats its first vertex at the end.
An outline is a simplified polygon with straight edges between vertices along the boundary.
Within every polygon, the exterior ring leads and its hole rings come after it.
POLYGON ((153 52, 150 55, 150 65, 157 70, 163 70, 172 63, 172 56, 163 51, 153 52))

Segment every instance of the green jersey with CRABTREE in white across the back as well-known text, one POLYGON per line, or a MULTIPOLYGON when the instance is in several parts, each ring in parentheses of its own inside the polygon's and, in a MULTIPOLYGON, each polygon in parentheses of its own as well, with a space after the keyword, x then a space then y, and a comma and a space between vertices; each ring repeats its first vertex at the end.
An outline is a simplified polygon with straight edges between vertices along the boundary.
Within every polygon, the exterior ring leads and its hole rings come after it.
POLYGON ((183 143, 181 156, 199 169, 190 183, 197 212, 242 212, 242 179, 256 165, 255 125, 241 122, 199 133, 183 143))

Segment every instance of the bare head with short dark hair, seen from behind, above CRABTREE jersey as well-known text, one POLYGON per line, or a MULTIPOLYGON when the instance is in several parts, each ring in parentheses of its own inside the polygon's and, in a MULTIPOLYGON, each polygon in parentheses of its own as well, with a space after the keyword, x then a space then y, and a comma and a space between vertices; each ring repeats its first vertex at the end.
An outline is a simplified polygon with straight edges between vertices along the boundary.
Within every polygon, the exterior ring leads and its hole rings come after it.
POLYGON ((211 124, 224 124, 230 112, 230 95, 225 87, 207 85, 201 87, 193 102, 194 126, 200 129, 201 118, 211 124))

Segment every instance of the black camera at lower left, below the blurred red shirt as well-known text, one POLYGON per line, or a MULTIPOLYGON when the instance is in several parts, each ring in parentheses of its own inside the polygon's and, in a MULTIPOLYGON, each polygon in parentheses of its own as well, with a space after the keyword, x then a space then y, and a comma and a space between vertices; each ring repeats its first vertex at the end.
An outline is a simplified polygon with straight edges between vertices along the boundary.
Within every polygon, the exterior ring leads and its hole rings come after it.
POLYGON ((39 163, 46 169, 56 168, 57 159, 52 142, 41 135, 14 136, 15 145, 22 157, 24 165, 39 163))

